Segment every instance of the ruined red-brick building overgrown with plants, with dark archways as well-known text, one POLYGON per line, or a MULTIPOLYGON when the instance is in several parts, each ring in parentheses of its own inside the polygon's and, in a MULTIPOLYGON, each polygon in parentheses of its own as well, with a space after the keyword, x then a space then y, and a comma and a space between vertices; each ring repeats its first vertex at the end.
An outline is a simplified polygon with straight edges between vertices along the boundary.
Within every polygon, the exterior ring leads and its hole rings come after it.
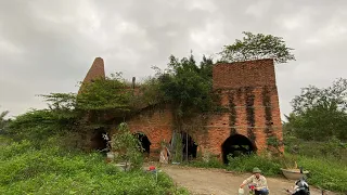
MULTIPOLYGON (((104 62, 97 57, 83 82, 105 77, 104 62)), ((223 161, 235 151, 261 152, 279 143, 283 152, 282 123, 275 84, 273 60, 220 63, 213 67, 214 93, 220 95, 224 112, 211 114, 203 131, 188 132, 189 153, 210 153, 223 161), (273 145, 273 144, 272 144, 273 145)), ((172 138, 172 114, 169 108, 146 110, 126 121, 133 133, 144 134, 147 153, 156 156, 160 142, 172 138)), ((188 140, 184 140, 188 143, 188 140)))

